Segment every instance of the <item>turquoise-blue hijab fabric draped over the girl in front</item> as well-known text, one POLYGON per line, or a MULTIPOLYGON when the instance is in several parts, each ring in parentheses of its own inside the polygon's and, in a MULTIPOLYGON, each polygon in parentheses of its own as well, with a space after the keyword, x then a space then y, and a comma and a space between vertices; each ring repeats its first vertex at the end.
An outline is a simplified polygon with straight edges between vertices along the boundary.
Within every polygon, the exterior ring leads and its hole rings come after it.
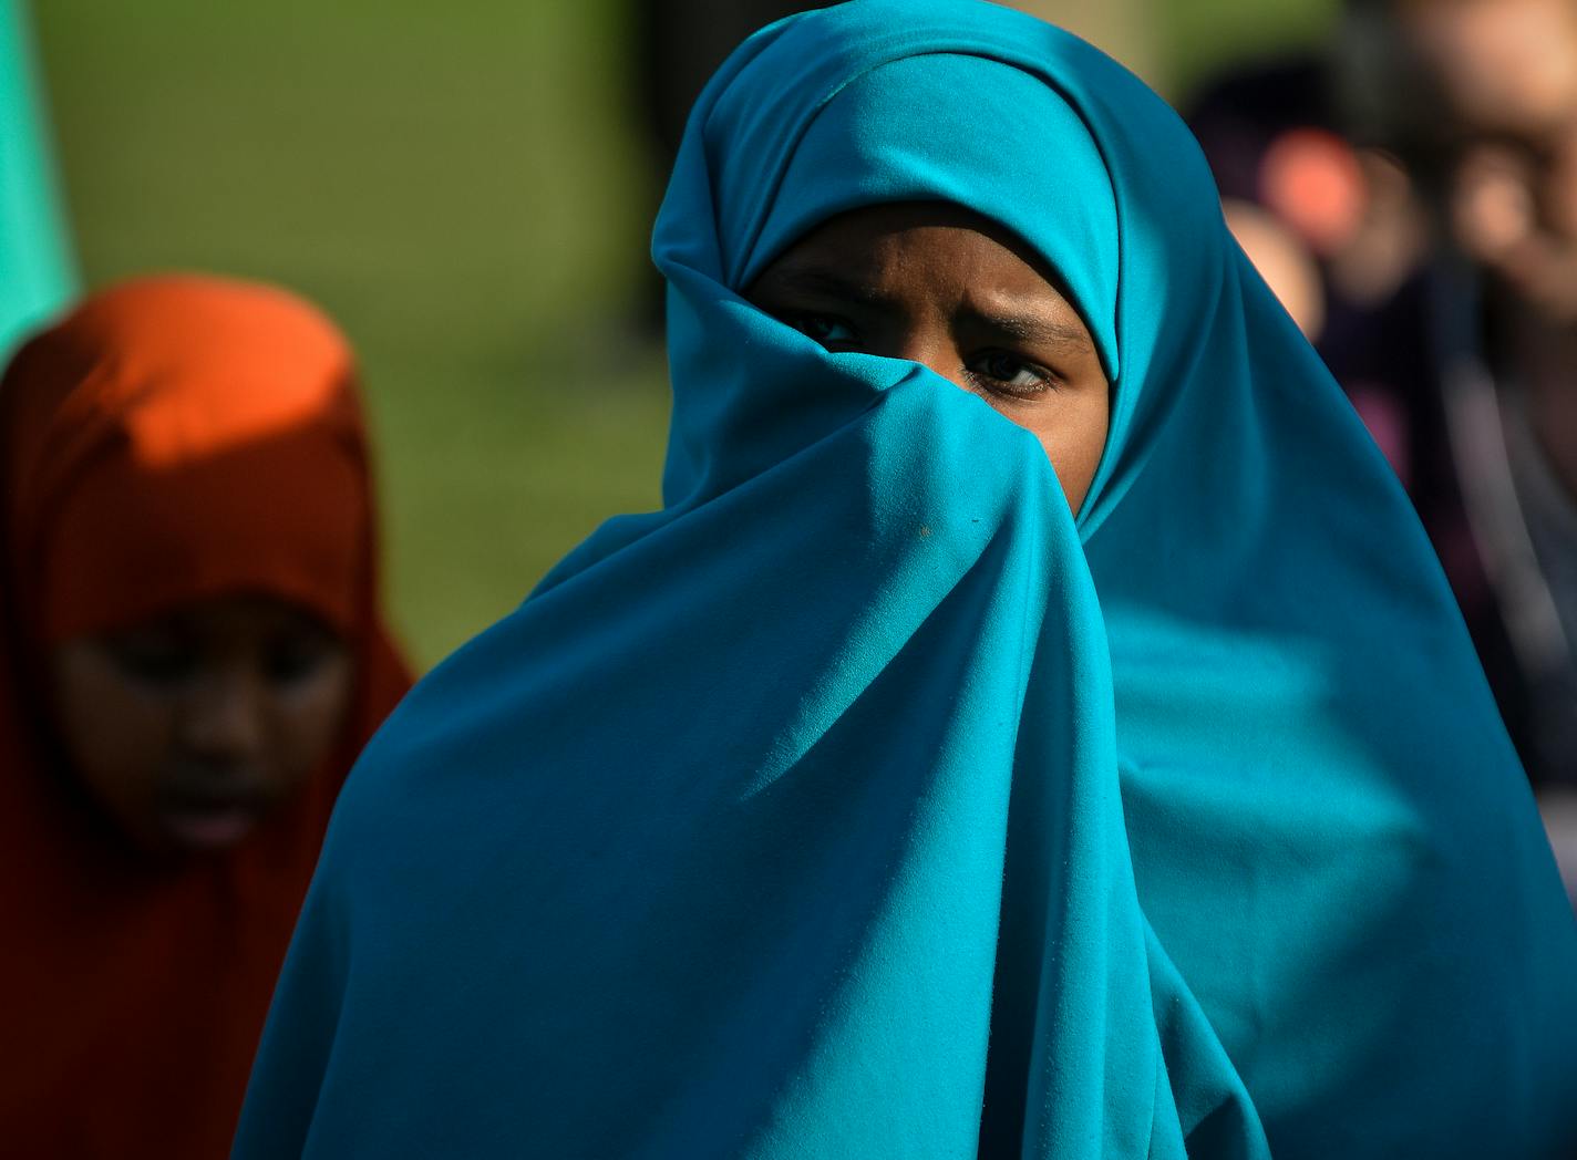
POLYGON ((1577 927, 1407 501, 1192 140, 1076 38, 749 39, 658 219, 664 507, 434 671, 341 799, 237 1155, 1560 1155, 1577 927), (1028 433, 741 290, 948 200, 1112 378, 1028 433))

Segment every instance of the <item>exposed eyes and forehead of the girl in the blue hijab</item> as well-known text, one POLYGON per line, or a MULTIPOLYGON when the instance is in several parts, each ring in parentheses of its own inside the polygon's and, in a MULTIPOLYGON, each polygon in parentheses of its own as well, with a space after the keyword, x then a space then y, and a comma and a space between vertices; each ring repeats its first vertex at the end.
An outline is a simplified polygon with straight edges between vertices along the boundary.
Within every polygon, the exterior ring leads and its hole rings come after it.
POLYGON ((746 299, 831 351, 919 362, 1035 433, 1077 512, 1101 463, 1110 383, 1055 273, 1008 230, 945 202, 828 219, 746 299))

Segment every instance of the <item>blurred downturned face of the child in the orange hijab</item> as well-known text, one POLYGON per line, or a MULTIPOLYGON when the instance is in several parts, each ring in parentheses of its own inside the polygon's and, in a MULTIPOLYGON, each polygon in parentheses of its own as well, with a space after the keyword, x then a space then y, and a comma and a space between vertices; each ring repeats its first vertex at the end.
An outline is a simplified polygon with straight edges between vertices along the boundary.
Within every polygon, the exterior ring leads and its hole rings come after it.
POLYGON ((49 652, 76 775, 144 850, 221 850, 301 790, 342 736, 353 664, 309 612, 226 596, 49 652))

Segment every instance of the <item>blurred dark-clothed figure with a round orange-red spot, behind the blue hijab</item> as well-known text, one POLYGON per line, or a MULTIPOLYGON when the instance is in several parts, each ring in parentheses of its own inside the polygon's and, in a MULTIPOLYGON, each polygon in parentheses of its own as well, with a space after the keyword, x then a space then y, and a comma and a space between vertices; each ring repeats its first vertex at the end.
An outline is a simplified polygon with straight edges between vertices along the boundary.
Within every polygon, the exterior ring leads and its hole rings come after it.
POLYGON ((1438 232, 1372 91, 1391 46, 1363 16, 1323 50, 1233 65, 1187 102, 1189 128, 1238 243, 1407 487, 1497 697, 1515 711, 1515 659, 1441 391, 1438 232))

